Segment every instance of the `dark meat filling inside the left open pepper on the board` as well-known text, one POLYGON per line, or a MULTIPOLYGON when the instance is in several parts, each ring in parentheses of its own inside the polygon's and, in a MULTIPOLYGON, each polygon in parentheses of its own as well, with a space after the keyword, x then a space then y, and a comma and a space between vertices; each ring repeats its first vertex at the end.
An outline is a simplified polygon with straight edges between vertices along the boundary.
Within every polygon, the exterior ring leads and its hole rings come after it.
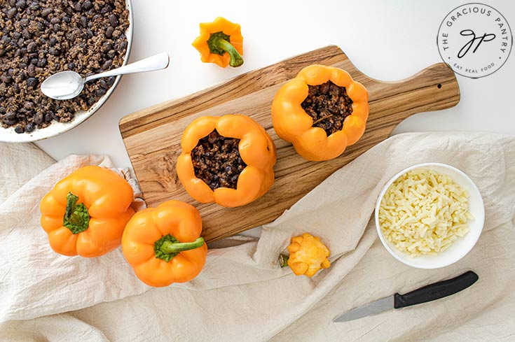
POLYGON ((235 189, 245 162, 240 157, 240 139, 221 136, 215 129, 198 141, 191 151, 195 177, 203 180, 211 190, 217 187, 235 189))

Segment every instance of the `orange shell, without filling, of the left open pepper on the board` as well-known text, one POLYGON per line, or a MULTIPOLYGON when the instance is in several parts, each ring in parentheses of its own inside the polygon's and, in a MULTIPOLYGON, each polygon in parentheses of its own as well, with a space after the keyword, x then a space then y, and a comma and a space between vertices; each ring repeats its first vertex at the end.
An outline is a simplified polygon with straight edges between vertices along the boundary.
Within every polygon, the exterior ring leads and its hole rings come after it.
POLYGON ((203 116, 184 130, 182 152, 177 159, 177 176, 191 197, 202 203, 243 206, 263 196, 273 184, 275 144, 265 129, 246 115, 203 116), (240 139, 238 150, 247 164, 238 177, 236 189, 218 187, 214 191, 195 176, 191 150, 198 141, 216 129, 221 136, 240 139))

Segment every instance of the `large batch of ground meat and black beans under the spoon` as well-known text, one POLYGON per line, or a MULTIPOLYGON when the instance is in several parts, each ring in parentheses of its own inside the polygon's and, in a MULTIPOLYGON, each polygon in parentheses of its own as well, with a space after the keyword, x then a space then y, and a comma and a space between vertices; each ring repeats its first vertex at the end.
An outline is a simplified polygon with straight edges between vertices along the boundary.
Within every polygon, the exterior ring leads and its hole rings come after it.
POLYGON ((124 0, 2 0, 1 127, 31 132, 88 110, 114 77, 86 83, 80 96, 66 101, 46 97, 39 85, 59 71, 88 76, 121 66, 128 26, 124 0))

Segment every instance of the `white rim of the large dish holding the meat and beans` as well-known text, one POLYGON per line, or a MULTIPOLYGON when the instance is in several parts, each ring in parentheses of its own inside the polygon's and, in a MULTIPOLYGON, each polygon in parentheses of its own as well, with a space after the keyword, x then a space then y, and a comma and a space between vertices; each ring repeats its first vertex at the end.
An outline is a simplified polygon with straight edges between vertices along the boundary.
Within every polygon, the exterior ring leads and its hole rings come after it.
MULTIPOLYGON (((127 51, 125 52, 125 58, 123 59, 122 66, 127 64, 130 55, 130 48, 132 46, 132 30, 133 30, 133 22, 132 19, 132 3, 131 0, 125 0, 125 6, 129 11, 129 27, 127 31, 125 31, 125 36, 127 37, 127 51)), ((98 99, 95 104, 93 104, 88 111, 78 111, 74 115, 74 119, 70 122, 55 122, 53 121, 50 126, 42 128, 42 129, 34 129, 34 131, 30 133, 21 133, 18 134, 14 131, 15 127, 2 128, 0 127, 0 141, 4 141, 6 143, 27 143, 30 141, 39 141, 46 138, 51 138, 53 136, 57 136, 65 131, 69 131, 70 129, 77 127, 79 124, 84 122, 88 117, 93 115, 101 106, 107 101, 109 95, 114 92, 114 88, 120 82, 121 76, 116 76, 114 80, 114 84, 107 90, 107 92, 102 95, 98 99)))

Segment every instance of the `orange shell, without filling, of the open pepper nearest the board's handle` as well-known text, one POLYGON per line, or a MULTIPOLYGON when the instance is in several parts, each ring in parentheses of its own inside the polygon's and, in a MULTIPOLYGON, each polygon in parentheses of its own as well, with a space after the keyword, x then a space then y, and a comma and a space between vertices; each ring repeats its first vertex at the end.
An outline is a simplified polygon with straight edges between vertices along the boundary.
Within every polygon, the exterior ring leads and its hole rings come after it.
POLYGON ((312 161, 341 155, 348 145, 362 137, 368 117, 369 93, 366 88, 352 80, 347 71, 331 66, 306 66, 296 78, 280 87, 272 103, 272 122, 277 135, 292 143, 299 155, 312 161), (345 117, 343 129, 327 136, 324 129, 313 127, 312 117, 305 113, 301 104, 308 97, 309 85, 321 85, 329 80, 346 88, 352 100, 352 114, 345 117))

